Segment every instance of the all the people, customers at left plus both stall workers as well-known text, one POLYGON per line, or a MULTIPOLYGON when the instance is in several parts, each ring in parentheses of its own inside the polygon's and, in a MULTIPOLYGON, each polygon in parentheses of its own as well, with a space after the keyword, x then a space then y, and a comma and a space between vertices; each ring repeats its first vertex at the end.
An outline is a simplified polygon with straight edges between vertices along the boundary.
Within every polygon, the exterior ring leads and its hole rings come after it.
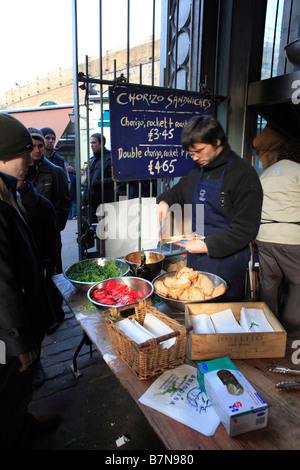
MULTIPOLYGON (((27 129, 0 113, 0 340, 6 348, 5 363, 0 363, 2 449, 26 449, 31 436, 59 423, 57 415, 36 418, 28 412, 32 386, 43 381, 43 338, 64 319, 52 276, 62 272, 61 232, 78 210, 76 173, 58 155, 55 140, 49 127, 27 129)), ((93 134, 90 143, 90 178, 80 177, 83 206, 95 222, 98 205, 114 200, 114 182, 105 138, 93 134)), ((255 240, 261 300, 282 316, 289 333, 299 334, 298 145, 267 125, 253 142, 264 167, 260 178, 231 149, 214 117, 192 118, 183 129, 182 146, 195 164, 157 198, 157 213, 162 222, 173 205, 191 205, 192 231, 205 238, 178 243, 187 251, 187 266, 222 277, 228 284, 223 300, 241 301, 255 240), (200 225, 199 204, 204 209, 200 225)))

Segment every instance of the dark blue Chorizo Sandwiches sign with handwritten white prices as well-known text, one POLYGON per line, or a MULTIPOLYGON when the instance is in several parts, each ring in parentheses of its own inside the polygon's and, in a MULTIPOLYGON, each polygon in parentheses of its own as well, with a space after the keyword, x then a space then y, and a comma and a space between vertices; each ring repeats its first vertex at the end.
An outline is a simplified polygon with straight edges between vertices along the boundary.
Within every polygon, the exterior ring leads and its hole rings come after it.
POLYGON ((109 89, 113 179, 185 176, 194 162, 181 132, 196 115, 214 115, 209 95, 153 87, 109 89))

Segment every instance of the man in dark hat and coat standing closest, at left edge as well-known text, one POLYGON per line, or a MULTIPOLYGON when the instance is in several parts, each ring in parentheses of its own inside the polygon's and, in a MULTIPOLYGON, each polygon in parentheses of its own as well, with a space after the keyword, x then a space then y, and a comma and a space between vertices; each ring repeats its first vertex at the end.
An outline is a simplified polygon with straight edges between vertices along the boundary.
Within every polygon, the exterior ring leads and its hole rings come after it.
POLYGON ((33 365, 51 319, 44 277, 26 211, 17 194, 32 166, 31 136, 17 119, 0 113, 0 449, 27 449, 34 433, 58 416, 28 412, 33 365), (3 350, 3 348, 2 348, 3 350))

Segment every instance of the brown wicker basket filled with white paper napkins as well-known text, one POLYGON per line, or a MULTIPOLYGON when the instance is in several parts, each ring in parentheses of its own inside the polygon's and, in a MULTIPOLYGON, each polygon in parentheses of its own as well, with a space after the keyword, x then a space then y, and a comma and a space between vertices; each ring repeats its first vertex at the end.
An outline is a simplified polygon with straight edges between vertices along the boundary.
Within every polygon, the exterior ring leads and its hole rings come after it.
MULTIPOLYGON (((125 309, 122 309, 122 311, 124 310, 125 309)), ((106 312, 105 321, 108 332, 115 351, 132 369, 139 380, 149 379, 184 363, 187 333, 191 327, 182 326, 177 321, 159 312, 154 307, 151 307, 151 302, 150 304, 140 302, 138 306, 135 307, 135 313, 128 318, 134 318, 142 325, 146 314, 152 313, 159 320, 172 328, 174 332, 137 344, 115 324, 115 321, 121 319, 120 313, 121 312, 117 309, 106 312), (173 346, 165 349, 160 347, 159 343, 161 341, 174 337, 176 339, 173 346)))

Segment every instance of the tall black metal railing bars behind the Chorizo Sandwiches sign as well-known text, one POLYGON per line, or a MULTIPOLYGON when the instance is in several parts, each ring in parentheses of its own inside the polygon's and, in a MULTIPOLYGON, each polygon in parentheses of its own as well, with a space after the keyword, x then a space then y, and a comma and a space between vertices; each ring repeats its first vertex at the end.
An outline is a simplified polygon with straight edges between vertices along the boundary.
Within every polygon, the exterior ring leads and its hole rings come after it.
MULTIPOLYGON (((86 124, 86 136, 85 140, 87 143, 86 147, 86 156, 87 156, 87 161, 89 162, 90 160, 90 135, 95 132, 91 131, 90 129, 90 87, 97 85, 100 88, 99 96, 100 96, 100 115, 99 115, 99 121, 101 123, 101 126, 99 127, 99 132, 104 135, 104 129, 103 129, 103 115, 104 115, 104 108, 103 108, 103 95, 104 95, 104 87, 111 87, 111 86, 116 86, 119 83, 122 85, 126 85, 130 87, 131 85, 137 85, 136 83, 130 83, 130 77, 131 77, 131 64, 130 64, 130 51, 131 51, 131 44, 130 44, 130 13, 131 13, 131 2, 130 0, 127 0, 127 47, 126 47, 126 70, 123 70, 122 73, 120 71, 117 73, 118 67, 116 61, 114 61, 114 73, 113 73, 113 79, 108 80, 103 78, 103 51, 102 51, 102 26, 103 26, 103 21, 105 21, 105 18, 103 17, 103 12, 102 12, 102 0, 99 0, 99 75, 98 76, 90 76, 90 71, 89 71, 89 57, 86 56, 85 60, 85 71, 84 72, 79 72, 78 70, 78 11, 77 11, 77 0, 72 0, 72 11, 73 11, 73 76, 74 76, 74 113, 75 113, 75 170, 77 174, 80 174, 80 169, 81 169, 81 142, 80 138, 82 136, 81 129, 80 129, 80 106, 81 103, 79 102, 79 93, 78 89, 84 89, 85 90, 85 100, 84 100, 84 106, 85 106, 85 124, 86 124), (125 74, 124 74, 125 72, 125 74), (119 76, 117 76, 119 75, 119 76)), ((148 84, 151 86, 155 86, 155 20, 156 20, 156 1, 152 0, 152 56, 151 56, 151 83, 148 84)), ((143 87, 143 64, 140 64, 139 66, 139 86, 143 87)), ((103 140, 101 142, 101 147, 102 147, 102 154, 104 150, 104 145, 103 145, 103 140)), ((88 191, 90 190, 90 174, 89 174, 89 165, 88 165, 88 171, 87 171, 87 182, 88 182, 88 191)), ((104 173, 103 173, 103 161, 102 161, 102 166, 101 166, 101 180, 103 181, 104 179, 104 173)), ((137 184, 137 197, 139 201, 141 202, 142 198, 142 181, 138 180, 135 182, 137 184)), ((154 185, 158 187, 158 192, 162 191, 162 188, 164 187, 164 184, 162 181, 153 181, 150 180, 149 184, 149 197, 155 196, 155 189, 154 185)), ((104 201, 104 184, 102 186, 102 201, 104 201)), ((82 207, 82 188, 80 184, 80 178, 77 178, 77 207, 78 207, 78 216, 77 216, 77 224, 78 224, 78 241, 79 241, 79 259, 82 259, 83 257, 87 257, 88 253, 86 252, 84 246, 84 238, 86 236, 89 236, 90 234, 90 226, 93 226, 95 229, 95 224, 90 224, 89 220, 87 221, 88 223, 86 224, 85 217, 82 214, 82 211, 80 208, 82 207)), ((123 190, 124 192, 124 190, 123 190)), ((118 183, 115 181, 114 182, 114 199, 115 201, 118 200, 118 183)), ((125 196, 126 198, 130 198, 130 183, 126 182, 125 183, 125 196)), ((97 254, 101 254, 105 256, 105 241, 104 240, 98 240, 96 236, 96 231, 95 231, 95 240, 96 240, 96 252, 97 254)), ((141 240, 139 236, 139 242, 138 242, 138 249, 141 250, 143 247, 141 246, 141 240)), ((172 249, 171 249, 172 252, 172 249)))

